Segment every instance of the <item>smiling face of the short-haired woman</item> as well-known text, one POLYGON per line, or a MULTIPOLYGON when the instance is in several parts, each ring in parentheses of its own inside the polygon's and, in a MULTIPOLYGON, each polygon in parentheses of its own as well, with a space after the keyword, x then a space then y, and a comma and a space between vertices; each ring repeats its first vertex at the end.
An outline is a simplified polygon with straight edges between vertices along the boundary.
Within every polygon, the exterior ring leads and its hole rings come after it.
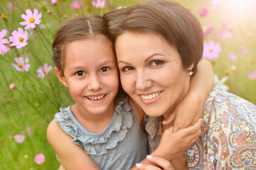
POLYGON ((186 96, 189 72, 175 47, 155 33, 126 32, 116 39, 121 84, 150 116, 168 116, 186 96))

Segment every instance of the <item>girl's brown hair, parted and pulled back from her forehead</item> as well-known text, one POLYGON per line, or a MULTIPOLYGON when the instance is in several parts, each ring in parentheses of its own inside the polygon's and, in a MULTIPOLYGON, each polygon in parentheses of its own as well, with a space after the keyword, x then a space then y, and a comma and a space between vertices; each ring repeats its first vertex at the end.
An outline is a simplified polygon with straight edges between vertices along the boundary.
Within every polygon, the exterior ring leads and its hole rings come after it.
POLYGON ((101 16, 74 17, 61 23, 52 42, 52 61, 55 67, 63 74, 65 50, 67 50, 69 43, 94 38, 97 35, 104 35, 103 40, 109 40, 107 43, 113 48, 106 21, 101 16))

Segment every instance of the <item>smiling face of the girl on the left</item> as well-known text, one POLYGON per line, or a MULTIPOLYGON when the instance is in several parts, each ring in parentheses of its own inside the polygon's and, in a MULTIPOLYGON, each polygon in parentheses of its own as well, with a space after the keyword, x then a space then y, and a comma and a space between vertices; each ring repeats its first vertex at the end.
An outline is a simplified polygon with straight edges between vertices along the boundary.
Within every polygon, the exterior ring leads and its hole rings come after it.
POLYGON ((118 69, 111 42, 102 35, 68 45, 62 84, 83 113, 113 110, 118 91, 118 69))

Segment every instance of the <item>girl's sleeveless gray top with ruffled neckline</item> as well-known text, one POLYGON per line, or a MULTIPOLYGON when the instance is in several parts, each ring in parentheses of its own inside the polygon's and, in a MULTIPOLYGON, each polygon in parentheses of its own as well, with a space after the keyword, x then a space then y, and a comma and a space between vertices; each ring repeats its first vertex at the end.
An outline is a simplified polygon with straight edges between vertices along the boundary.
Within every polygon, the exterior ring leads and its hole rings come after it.
POLYGON ((141 132, 127 98, 116 100, 111 121, 99 133, 86 130, 74 118, 70 108, 60 108, 60 113, 55 114, 55 120, 100 169, 130 169, 145 159, 148 154, 147 137, 141 132))

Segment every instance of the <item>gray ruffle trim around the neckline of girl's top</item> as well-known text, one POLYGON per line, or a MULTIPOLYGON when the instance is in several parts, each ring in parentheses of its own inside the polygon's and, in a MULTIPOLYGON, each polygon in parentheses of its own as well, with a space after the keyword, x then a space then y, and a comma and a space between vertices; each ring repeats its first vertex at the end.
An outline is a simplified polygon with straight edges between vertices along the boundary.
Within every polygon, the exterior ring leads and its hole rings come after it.
POLYGON ((84 128, 79 128, 82 125, 72 115, 70 107, 60 108, 60 113, 55 114, 55 120, 60 123, 62 130, 73 138, 72 141, 82 147, 87 154, 106 154, 108 149, 113 149, 118 142, 123 141, 133 124, 133 113, 127 98, 116 101, 115 112, 110 123, 99 133, 91 133, 84 128))

